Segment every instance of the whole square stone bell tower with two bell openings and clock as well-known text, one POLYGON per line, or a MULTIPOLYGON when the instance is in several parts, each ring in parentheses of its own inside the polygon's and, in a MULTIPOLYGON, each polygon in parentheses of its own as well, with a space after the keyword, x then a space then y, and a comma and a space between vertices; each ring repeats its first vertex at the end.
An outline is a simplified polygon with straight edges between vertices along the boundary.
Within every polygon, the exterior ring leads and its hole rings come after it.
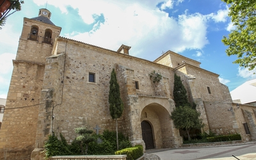
POLYGON ((0 130, 0 159, 30 159, 35 148, 45 58, 61 31, 50 19, 45 8, 38 17, 24 18, 0 130))

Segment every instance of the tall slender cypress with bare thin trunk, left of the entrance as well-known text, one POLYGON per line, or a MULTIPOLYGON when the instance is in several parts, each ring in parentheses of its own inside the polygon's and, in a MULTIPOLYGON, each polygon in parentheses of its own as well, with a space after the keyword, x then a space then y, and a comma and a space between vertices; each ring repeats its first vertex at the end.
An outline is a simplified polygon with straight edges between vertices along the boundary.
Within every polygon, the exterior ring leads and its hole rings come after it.
POLYGON ((123 114, 124 104, 120 97, 119 84, 116 79, 115 69, 111 72, 111 78, 109 81, 109 111, 113 119, 116 120, 116 149, 118 150, 118 123, 117 118, 120 118, 123 114))

